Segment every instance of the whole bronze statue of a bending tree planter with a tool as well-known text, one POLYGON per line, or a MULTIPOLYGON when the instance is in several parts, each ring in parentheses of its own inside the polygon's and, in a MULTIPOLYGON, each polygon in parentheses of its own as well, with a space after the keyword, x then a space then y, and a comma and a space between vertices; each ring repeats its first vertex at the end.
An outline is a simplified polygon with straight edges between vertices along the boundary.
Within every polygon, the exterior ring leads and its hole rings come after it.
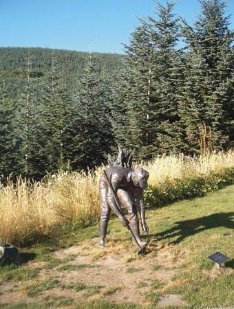
POLYGON ((101 214, 99 225, 99 247, 105 247, 105 237, 107 234, 107 225, 111 209, 121 220, 124 227, 129 227, 134 234, 133 239, 140 248, 145 247, 146 242, 140 240, 140 229, 137 211, 140 214, 142 229, 149 231, 145 222, 145 203, 143 199, 143 190, 147 187, 149 173, 142 168, 131 169, 131 152, 119 150, 118 158, 114 161, 109 160, 111 165, 103 172, 100 177, 100 202, 101 214), (123 215, 118 207, 118 201, 127 209, 129 221, 123 215), (135 203, 136 202, 136 205, 135 203))

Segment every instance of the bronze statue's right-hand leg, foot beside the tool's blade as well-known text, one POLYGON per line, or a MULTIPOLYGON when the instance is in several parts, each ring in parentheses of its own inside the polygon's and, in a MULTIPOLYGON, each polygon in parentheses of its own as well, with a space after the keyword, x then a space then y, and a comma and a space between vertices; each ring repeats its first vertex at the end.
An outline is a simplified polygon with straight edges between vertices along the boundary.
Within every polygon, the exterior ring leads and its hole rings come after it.
POLYGON ((120 203, 122 203, 127 208, 127 211, 129 213, 129 225, 134 233, 134 236, 136 237, 138 244, 140 244, 140 247, 144 247, 147 244, 147 242, 143 242, 140 239, 140 229, 139 229, 137 209, 136 206, 134 205, 134 198, 132 197, 131 192, 129 192, 129 190, 125 188, 121 188, 118 189, 117 196, 120 200, 120 203))

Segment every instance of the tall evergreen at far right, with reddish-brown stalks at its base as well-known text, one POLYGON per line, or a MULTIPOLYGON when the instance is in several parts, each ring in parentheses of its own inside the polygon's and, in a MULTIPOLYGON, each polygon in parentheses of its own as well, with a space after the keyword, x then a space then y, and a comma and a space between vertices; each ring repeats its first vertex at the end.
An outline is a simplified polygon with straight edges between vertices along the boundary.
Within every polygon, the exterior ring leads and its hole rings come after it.
POLYGON ((181 89, 180 117, 185 124, 188 152, 221 149, 229 144, 233 117, 231 74, 233 32, 228 30, 225 3, 202 0, 202 14, 194 27, 184 22, 187 43, 185 82, 181 89), (227 126, 229 122, 229 125, 227 126))

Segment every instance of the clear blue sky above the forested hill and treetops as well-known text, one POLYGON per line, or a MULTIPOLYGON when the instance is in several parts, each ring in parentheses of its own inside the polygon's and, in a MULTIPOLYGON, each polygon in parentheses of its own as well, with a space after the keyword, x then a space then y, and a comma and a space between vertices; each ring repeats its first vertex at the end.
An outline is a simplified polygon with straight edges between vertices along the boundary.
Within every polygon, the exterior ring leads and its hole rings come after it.
MULTIPOLYGON (((234 0, 227 3, 232 14, 234 0)), ((137 17, 155 11, 153 0, 0 0, 0 46, 123 53, 137 17)), ((198 0, 176 1, 175 13, 189 23, 199 11, 198 0)))

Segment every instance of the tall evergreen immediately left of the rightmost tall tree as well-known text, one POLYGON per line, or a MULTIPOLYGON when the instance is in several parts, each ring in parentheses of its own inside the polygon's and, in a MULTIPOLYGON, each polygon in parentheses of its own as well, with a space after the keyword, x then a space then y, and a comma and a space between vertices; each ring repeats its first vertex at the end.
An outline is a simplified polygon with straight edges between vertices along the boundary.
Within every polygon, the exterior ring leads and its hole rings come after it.
POLYGON ((167 1, 165 6, 156 4, 158 18, 149 18, 154 36, 156 55, 153 76, 156 79, 154 93, 154 130, 158 148, 156 152, 171 152, 171 135, 175 123, 179 121, 178 96, 183 83, 182 52, 176 48, 178 43, 178 18, 173 14, 175 3, 167 1))

